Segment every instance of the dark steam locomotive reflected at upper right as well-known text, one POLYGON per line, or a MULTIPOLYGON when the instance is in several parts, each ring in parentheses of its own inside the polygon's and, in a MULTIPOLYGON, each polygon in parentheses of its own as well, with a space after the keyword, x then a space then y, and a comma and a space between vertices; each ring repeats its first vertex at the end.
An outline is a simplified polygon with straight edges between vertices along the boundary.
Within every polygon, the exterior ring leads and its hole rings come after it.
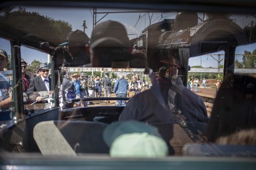
POLYGON ((187 82, 189 58, 225 50, 225 66, 233 66, 234 47, 248 42, 246 32, 228 14, 205 13, 198 24, 198 14, 180 12, 175 19, 152 24, 133 39, 154 71, 166 66, 173 74, 187 82), (157 63, 157 64, 156 64, 157 63))

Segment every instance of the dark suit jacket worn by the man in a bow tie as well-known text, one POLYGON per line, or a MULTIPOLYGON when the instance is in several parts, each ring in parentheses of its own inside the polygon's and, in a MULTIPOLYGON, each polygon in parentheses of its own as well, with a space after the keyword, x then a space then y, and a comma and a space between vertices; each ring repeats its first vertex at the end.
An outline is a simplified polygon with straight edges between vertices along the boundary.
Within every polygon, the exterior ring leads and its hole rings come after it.
MULTIPOLYGON (((48 77, 49 78, 49 77, 48 77)), ((49 89, 51 89, 51 78, 49 78, 49 89)), ((29 89, 27 89, 27 95, 31 96, 33 95, 33 92, 41 92, 41 91, 47 91, 45 88, 44 82, 42 81, 41 76, 35 77, 31 79, 29 84, 29 89)))

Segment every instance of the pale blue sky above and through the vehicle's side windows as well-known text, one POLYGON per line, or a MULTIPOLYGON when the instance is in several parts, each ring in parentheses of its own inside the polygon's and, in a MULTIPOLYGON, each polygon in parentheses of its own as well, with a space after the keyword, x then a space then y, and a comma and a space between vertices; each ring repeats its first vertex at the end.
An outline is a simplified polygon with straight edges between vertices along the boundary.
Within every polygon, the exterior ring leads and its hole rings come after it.
MULTIPOLYGON (((83 22, 84 20, 86 21, 86 34, 88 37, 91 37, 91 32, 93 30, 93 8, 91 9, 80 9, 76 8, 70 11, 70 9, 54 9, 53 8, 37 8, 35 10, 34 8, 27 8, 27 12, 38 12, 42 16, 47 16, 51 19, 54 20, 61 20, 61 21, 66 21, 72 26, 72 30, 82 30, 83 31, 83 22), (68 12, 67 12, 68 11, 68 12), (74 19, 75 18, 75 19, 74 19)), ((127 10, 114 10, 114 9, 97 9, 97 12, 127 12, 127 10)), ((129 10, 130 11, 130 10, 129 10)), ((129 38, 136 38, 141 34, 141 31, 146 28, 149 23, 150 23, 150 17, 151 23, 157 23, 158 21, 161 21, 163 19, 175 19, 176 17, 176 12, 173 13, 145 13, 145 12, 137 12, 137 13, 109 13, 108 15, 105 16, 105 13, 98 14, 97 15, 97 21, 105 21, 105 20, 116 20, 122 23, 127 30, 127 34, 132 34, 129 35, 129 38), (105 16, 105 17, 103 17, 105 16), (103 18, 102 18, 103 17, 103 18)), ((199 14, 200 17, 202 17, 199 14)), ((241 27, 246 26, 248 23, 251 22, 251 17, 250 16, 243 16, 237 19, 237 24, 239 24, 241 27)), ((254 18, 255 20, 255 18, 254 18)), ((1 40, 0 40, 1 41, 1 40)), ((243 54, 244 50, 249 50, 253 52, 253 50, 256 49, 256 45, 250 45, 247 47, 239 48, 237 49, 237 53, 243 54)), ((219 53, 214 53, 214 56, 218 54, 223 54, 223 52, 219 53)), ((27 48, 22 49, 22 56, 26 56, 26 61, 27 63, 33 62, 33 60, 38 60, 41 62, 47 62, 47 54, 42 53, 42 52, 31 52, 31 49, 28 50, 27 48)), ((237 56, 240 61, 241 61, 241 56, 237 56)), ((216 57, 215 57, 216 58, 216 57)), ((200 66, 202 64, 202 67, 216 67, 218 66, 218 62, 213 59, 211 56, 206 55, 206 56, 201 56, 201 57, 194 57, 190 59, 189 62, 190 66, 200 66)), ((223 64, 223 63, 221 63, 223 64)))

